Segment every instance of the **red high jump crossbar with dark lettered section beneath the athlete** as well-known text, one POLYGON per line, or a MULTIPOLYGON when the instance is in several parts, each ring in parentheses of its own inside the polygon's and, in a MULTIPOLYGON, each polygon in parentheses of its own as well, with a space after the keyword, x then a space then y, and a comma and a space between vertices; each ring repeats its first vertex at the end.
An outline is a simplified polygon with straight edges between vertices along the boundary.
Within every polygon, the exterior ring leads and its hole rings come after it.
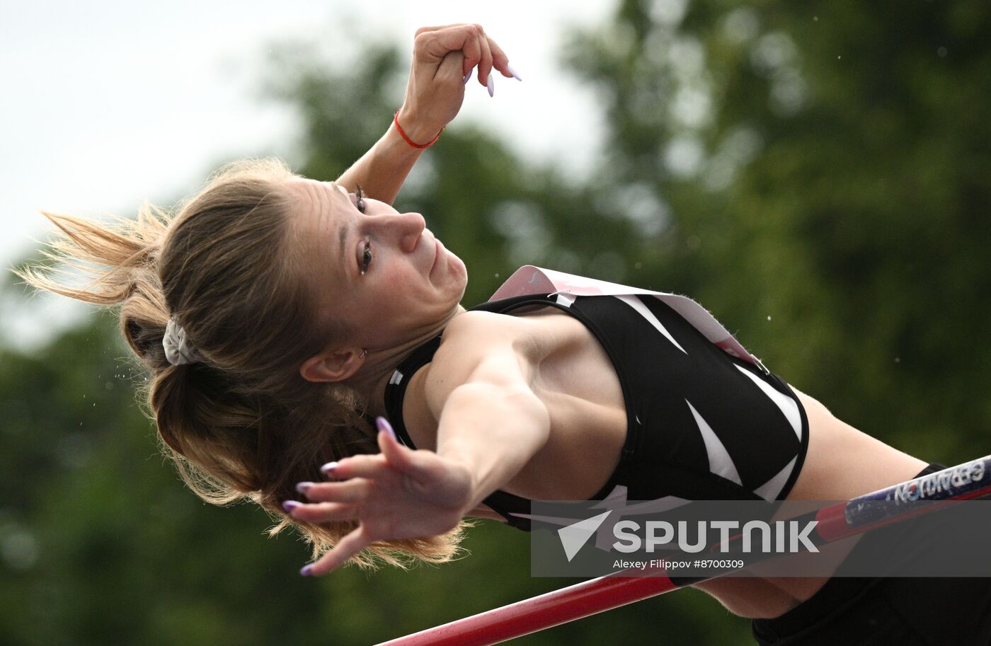
MULTIPOLYGON (((945 508, 945 505, 911 505, 902 509, 890 508, 888 515, 878 520, 876 514, 865 518, 859 512, 859 504, 879 500, 891 500, 897 496, 903 499, 908 494, 919 499, 959 501, 991 495, 991 456, 978 458, 956 467, 950 467, 933 474, 914 478, 905 483, 879 489, 873 493, 858 496, 848 502, 837 502, 803 514, 801 519, 815 519, 814 542, 825 545, 833 541, 862 534, 877 527, 907 520, 945 508), (967 482, 960 482, 961 474, 969 474, 967 482), (953 481, 953 476, 957 476, 953 481), (941 477, 941 478, 940 478, 941 477), (947 481, 946 478, 950 480, 947 481), (952 482, 932 494, 922 493, 924 481, 952 482)), ((874 507, 876 509, 876 507, 874 507)), ((787 556, 787 555, 782 555, 787 556)), ((775 558, 775 557, 772 557, 775 558)), ((532 598, 523 599, 481 612, 463 619, 457 619, 420 632, 398 637, 379 646, 491 646, 508 639, 522 637, 539 630, 575 621, 599 612, 639 601, 665 592, 678 590, 707 579, 672 580, 658 572, 651 576, 624 576, 631 571, 592 579, 553 592, 546 592, 532 598)), ((728 574, 727 571, 723 574, 728 574)), ((715 577, 714 577, 715 578, 715 577)))

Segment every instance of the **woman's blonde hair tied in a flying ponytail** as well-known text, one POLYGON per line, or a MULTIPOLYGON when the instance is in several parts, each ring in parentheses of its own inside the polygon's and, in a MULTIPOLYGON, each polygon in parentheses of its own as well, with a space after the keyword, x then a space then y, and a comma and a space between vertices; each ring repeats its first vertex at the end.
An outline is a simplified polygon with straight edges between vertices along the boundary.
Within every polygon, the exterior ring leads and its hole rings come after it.
MULTIPOLYGON (((53 278, 71 275, 66 269, 16 273, 41 289, 120 305, 121 332, 152 377, 140 395, 182 480, 214 504, 258 502, 278 519, 270 534, 295 525, 316 558, 356 523, 294 522, 280 502, 296 496, 296 483, 318 481, 321 464, 378 449, 357 392, 299 375, 305 359, 348 330, 317 311, 303 279, 285 190, 294 176, 280 160, 232 162, 174 214, 146 205, 137 220, 104 226, 44 213, 57 227, 54 253, 45 256, 92 280, 77 288, 53 278), (167 362, 162 340, 170 316, 203 362, 167 362)), ((354 561, 448 561, 464 526, 383 541, 354 561)))

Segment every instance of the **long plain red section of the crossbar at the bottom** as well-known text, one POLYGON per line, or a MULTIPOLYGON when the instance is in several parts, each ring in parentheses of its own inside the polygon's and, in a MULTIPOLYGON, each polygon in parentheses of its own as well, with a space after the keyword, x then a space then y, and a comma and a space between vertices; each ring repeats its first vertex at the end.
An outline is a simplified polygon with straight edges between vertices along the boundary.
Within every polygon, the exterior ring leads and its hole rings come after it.
POLYGON ((663 575, 601 577, 399 637, 380 646, 489 646, 677 588, 663 575))

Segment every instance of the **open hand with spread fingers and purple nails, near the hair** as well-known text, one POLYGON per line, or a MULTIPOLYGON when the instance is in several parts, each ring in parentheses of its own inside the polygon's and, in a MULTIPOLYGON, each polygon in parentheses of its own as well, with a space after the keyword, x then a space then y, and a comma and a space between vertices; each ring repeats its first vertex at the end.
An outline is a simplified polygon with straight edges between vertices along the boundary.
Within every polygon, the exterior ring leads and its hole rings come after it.
POLYGON ((398 443, 378 419, 382 453, 356 455, 324 465, 332 483, 300 483, 308 502, 286 500, 292 518, 308 523, 357 520, 359 526, 332 550, 305 566, 304 576, 325 575, 379 540, 434 536, 454 529, 469 511, 470 470, 432 451, 398 443))

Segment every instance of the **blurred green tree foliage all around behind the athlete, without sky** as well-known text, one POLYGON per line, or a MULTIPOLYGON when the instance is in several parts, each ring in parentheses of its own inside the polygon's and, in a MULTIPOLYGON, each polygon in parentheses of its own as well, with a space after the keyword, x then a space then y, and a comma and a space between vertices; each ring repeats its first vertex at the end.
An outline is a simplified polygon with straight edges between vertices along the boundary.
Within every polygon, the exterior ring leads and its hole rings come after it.
MULTIPOLYGON (((565 57, 607 137, 591 178, 527 163, 462 117, 397 206, 472 276, 532 263, 706 304, 775 372, 924 459, 988 453, 985 3, 620 2, 565 57)), ((407 62, 348 71, 305 47, 269 92, 298 109, 300 171, 338 175, 384 131, 407 62)), ((10 287, 8 287, 10 288, 10 287)), ((527 537, 484 521, 469 558, 319 580, 257 509, 178 483, 134 402, 111 317, 0 350, 0 643, 365 644, 573 581, 528 575, 527 537)), ((519 644, 746 643, 701 592, 519 644)))

